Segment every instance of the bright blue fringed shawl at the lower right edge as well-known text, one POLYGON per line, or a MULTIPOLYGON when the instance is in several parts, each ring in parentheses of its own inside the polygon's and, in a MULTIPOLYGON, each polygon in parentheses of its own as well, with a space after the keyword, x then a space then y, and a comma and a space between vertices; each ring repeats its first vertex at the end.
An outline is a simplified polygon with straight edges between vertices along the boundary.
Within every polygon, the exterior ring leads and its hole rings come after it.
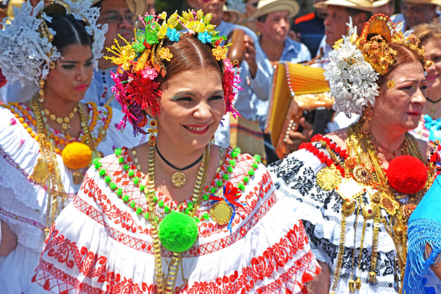
POLYGON ((409 218, 403 294, 427 293, 423 277, 430 265, 441 261, 440 254, 441 176, 438 176, 409 218), (426 244, 432 248, 429 256, 425 253, 426 244))

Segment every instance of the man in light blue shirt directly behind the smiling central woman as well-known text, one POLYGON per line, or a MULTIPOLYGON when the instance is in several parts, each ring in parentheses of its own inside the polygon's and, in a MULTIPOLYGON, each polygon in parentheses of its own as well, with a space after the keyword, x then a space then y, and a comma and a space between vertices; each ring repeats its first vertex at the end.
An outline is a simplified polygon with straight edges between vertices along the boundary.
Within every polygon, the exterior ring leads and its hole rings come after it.
MULTIPOLYGON (((211 14, 211 24, 216 26, 219 36, 228 36, 233 30, 241 29, 246 35, 243 42, 245 46, 245 56, 240 64, 241 87, 244 91, 239 91, 234 107, 246 119, 257 120, 256 109, 252 105, 255 100, 268 100, 268 93, 271 86, 270 66, 265 62, 265 57, 256 34, 250 29, 230 24, 222 21, 224 6, 223 0, 187 0, 188 4, 194 10, 202 10, 204 14, 211 14)), ((226 116, 224 126, 220 126, 214 134, 216 144, 228 147, 230 146, 230 117, 226 116)))

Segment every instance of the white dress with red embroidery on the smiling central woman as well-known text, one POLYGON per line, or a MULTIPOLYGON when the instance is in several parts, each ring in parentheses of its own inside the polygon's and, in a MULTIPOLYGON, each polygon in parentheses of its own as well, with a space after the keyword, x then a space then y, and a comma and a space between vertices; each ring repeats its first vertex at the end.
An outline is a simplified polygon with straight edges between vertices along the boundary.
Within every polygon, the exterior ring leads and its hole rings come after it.
MULTIPOLYGON (((156 293, 151 224, 143 212, 136 213, 138 209, 146 211, 146 198, 123 168, 124 163, 119 162, 120 157, 131 162, 123 148, 120 156, 101 159, 99 171, 91 168, 74 201, 55 221, 34 277, 50 292, 156 293), (116 183, 115 189, 109 183, 116 183)), ((176 287, 183 287, 176 288, 176 292, 304 290, 304 283, 320 268, 302 222, 276 197, 263 165, 257 165, 247 154, 239 155, 234 166, 230 164, 232 159, 230 150, 222 170, 205 191, 222 189, 226 181, 238 186, 248 177, 236 200, 246 205, 236 207, 230 232, 227 224, 218 225, 209 217, 203 219, 212 204, 209 200, 201 202, 196 210, 196 216, 202 218, 197 222, 198 238, 182 252, 183 277, 188 282, 183 282, 179 269, 176 287)), ((134 165, 130 169, 135 171, 135 177, 142 176, 134 165)), ((164 207, 179 209, 178 203, 163 194, 156 196, 158 203, 164 201, 164 207)), ((180 209, 185 210, 187 203, 182 203, 180 209)), ((158 204, 155 212, 159 220, 165 216, 164 208, 158 204)), ((165 273, 171 254, 161 247, 165 273)))

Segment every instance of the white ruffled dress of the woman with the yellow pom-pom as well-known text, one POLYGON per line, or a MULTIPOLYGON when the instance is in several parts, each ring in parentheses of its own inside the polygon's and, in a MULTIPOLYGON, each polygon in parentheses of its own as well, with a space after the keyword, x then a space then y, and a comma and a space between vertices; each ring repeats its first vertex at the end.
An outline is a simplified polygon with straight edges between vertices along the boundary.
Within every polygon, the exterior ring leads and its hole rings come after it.
MULTIPOLYGON (((108 125, 105 138, 97 146, 98 151, 111 154, 114 145, 124 142, 135 146, 143 142, 145 138, 133 137, 129 129, 116 129, 115 124, 122 118, 119 111, 112 114, 108 108, 93 106, 94 104, 88 104, 88 125, 91 126, 96 121, 91 133, 94 141, 97 140, 100 129, 108 125), (92 119, 94 116, 96 117, 92 119)), ((0 218, 17 234, 18 245, 7 256, 0 256, 0 293, 27 294, 42 291, 31 283, 31 278, 43 248, 48 197, 45 186, 32 178, 40 158, 39 143, 31 137, 31 132, 37 132, 32 124, 35 119, 33 112, 24 104, 12 105, 12 109, 15 113, 0 107, 0 218), (22 124, 21 120, 27 125, 22 124)), ((63 138, 61 134, 57 135, 63 138)), ((80 139, 82 136, 83 133, 80 139)), ((71 201, 80 184, 74 184, 73 170, 64 165, 60 155, 57 154, 56 157, 68 201, 71 201)), ((87 168, 83 170, 85 173, 87 168)))

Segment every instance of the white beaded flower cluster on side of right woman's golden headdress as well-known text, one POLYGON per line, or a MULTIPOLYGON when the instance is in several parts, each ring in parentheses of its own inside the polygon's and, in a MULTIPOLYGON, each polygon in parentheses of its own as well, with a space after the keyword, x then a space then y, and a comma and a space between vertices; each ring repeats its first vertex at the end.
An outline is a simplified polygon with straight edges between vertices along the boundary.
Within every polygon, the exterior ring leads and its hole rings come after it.
POLYGON ((375 83, 379 74, 365 61, 363 52, 355 44, 357 27, 353 27, 352 18, 347 25, 349 34, 329 53, 331 62, 324 76, 335 98, 333 109, 351 117, 351 113, 361 114, 365 107, 374 105, 379 94, 375 83))

